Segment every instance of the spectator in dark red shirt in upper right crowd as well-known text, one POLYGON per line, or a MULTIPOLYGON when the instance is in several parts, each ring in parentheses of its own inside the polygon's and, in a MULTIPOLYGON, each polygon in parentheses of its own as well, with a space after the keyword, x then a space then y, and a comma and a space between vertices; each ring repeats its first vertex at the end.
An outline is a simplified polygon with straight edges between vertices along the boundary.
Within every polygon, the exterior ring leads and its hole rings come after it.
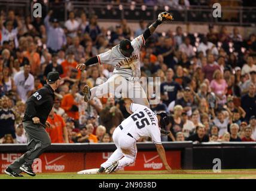
POLYGON ((208 79, 210 82, 214 78, 215 70, 220 70, 220 66, 215 61, 213 54, 208 54, 207 56, 207 64, 203 66, 202 71, 205 74, 205 78, 208 79))

